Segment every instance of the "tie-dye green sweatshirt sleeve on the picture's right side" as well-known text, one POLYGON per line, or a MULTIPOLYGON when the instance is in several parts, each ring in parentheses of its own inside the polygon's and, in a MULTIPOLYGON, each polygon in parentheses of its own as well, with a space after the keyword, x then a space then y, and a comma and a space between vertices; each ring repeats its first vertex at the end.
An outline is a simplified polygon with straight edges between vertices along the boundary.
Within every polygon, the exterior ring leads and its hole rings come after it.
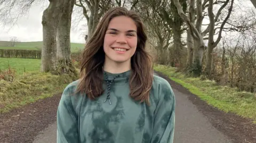
POLYGON ((154 128, 150 143, 173 143, 175 125, 175 97, 165 81, 159 88, 159 100, 154 113, 154 128))

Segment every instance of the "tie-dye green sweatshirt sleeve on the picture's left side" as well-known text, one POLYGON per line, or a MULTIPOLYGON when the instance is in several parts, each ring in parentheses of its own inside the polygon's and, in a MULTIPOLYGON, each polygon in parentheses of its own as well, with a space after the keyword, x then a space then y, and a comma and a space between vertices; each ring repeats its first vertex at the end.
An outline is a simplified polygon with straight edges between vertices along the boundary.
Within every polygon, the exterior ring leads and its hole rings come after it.
POLYGON ((77 115, 73 108, 69 87, 62 93, 57 111, 57 143, 78 143, 77 115))

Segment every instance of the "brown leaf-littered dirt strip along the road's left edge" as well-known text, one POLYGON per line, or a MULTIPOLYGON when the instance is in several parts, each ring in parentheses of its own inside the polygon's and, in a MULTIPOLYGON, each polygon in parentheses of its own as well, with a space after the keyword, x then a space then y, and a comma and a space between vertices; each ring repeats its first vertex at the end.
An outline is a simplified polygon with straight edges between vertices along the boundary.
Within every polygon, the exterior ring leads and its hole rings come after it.
POLYGON ((58 94, 0 114, 0 142, 33 142, 39 132, 56 121, 60 98, 58 94))

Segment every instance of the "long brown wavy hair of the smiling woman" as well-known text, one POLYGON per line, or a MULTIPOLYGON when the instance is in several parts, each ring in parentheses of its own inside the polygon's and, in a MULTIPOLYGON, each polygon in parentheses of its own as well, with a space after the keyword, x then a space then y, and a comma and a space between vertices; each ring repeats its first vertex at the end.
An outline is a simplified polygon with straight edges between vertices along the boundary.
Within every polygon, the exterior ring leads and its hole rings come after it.
POLYGON ((130 96, 149 104, 150 89, 153 84, 153 62, 146 51, 147 35, 140 16, 124 7, 115 7, 106 12, 97 29, 87 41, 82 53, 80 81, 77 92, 85 93, 90 99, 95 99, 103 93, 103 69, 105 52, 103 41, 108 24, 116 16, 127 16, 134 20, 137 26, 138 44, 131 57, 131 77, 129 79, 130 96))

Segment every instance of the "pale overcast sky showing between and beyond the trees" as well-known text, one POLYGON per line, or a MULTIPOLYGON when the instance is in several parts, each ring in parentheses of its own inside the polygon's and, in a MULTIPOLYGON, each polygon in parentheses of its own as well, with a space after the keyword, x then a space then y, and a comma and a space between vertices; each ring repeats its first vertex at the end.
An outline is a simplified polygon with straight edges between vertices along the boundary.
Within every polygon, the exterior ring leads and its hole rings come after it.
MULTIPOLYGON (((243 4, 248 7, 253 7, 252 3, 249 0, 243 0, 243 4), (245 2, 246 1, 246 2, 245 2)), ((10 37, 15 36, 20 41, 42 41, 43 40, 43 32, 42 32, 42 14, 44 9, 47 7, 48 3, 44 3, 43 5, 37 5, 31 7, 28 16, 22 16, 18 23, 10 27, 10 25, 0 26, 0 40, 10 40, 10 37), (11 28, 11 29, 10 29, 11 28)), ((75 7, 77 9, 77 7, 75 7)), ((73 14, 73 19, 76 18, 77 14, 73 14)), ((83 20, 79 22, 78 26, 75 30, 71 30, 71 42, 72 43, 84 43, 83 34, 86 33, 86 27, 82 25, 86 25, 86 21, 83 20)), ((72 23, 74 28, 75 23, 72 23)))

